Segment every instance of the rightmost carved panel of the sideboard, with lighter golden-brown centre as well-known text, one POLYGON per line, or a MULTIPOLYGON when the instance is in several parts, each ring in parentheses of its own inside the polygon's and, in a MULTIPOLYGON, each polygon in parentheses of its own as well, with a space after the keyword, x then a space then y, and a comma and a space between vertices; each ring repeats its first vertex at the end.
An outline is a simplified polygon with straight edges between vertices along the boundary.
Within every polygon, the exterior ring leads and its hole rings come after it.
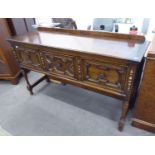
POLYGON ((84 80, 96 86, 125 92, 127 66, 84 60, 84 80))

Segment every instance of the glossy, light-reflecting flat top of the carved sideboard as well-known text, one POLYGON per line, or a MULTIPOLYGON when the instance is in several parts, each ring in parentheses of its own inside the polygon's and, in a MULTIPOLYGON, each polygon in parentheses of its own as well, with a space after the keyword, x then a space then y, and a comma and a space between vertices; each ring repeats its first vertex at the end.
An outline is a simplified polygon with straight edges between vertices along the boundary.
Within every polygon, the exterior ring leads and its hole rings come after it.
MULTIPOLYGON (((105 34, 108 33, 106 32, 105 34)), ((109 34, 111 35, 112 33, 109 34)), ((8 40, 140 62, 147 50, 149 42, 122 38, 117 33, 112 34, 111 37, 104 35, 103 37, 91 37, 60 33, 59 31, 38 30, 27 33, 26 35, 15 36, 8 40)))

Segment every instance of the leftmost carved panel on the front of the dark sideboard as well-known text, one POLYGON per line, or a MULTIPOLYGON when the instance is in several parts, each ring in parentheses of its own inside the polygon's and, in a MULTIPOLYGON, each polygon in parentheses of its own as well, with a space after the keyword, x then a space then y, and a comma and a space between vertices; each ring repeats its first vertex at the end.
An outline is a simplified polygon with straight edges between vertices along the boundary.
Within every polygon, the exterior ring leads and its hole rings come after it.
POLYGON ((20 64, 26 67, 33 67, 34 69, 42 69, 40 55, 37 49, 16 46, 15 50, 15 56, 20 64))

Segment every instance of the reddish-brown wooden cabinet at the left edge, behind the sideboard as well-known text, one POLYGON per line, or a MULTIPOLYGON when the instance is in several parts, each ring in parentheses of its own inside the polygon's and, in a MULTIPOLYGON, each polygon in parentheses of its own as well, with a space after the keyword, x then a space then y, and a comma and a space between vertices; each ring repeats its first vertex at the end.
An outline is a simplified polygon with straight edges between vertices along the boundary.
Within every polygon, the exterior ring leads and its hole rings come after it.
POLYGON ((0 18, 0 79, 18 83, 19 66, 13 56, 12 48, 6 41, 11 32, 5 18, 0 18))

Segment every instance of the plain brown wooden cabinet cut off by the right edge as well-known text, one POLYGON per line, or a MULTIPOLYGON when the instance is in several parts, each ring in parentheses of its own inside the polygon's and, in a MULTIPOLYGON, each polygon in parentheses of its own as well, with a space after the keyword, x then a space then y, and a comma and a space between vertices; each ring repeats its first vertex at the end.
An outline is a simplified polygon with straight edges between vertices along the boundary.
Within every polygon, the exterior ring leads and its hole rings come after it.
POLYGON ((132 124, 155 132, 155 36, 148 49, 132 124))

